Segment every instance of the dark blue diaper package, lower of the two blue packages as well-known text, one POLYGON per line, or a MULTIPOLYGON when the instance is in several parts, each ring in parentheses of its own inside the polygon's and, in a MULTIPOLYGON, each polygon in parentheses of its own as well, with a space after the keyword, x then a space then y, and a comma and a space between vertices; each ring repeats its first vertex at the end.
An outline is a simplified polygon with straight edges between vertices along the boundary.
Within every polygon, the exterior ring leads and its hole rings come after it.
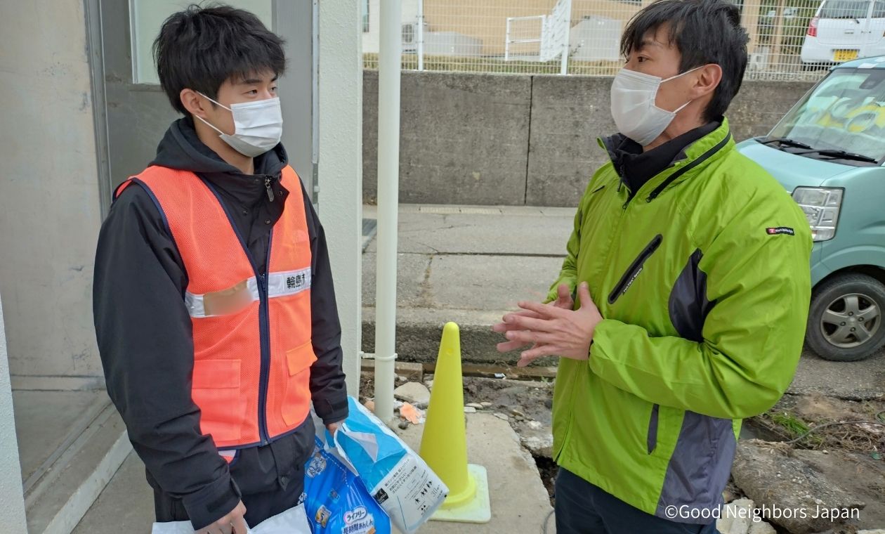
POLYGON ((304 507, 313 534, 390 534, 387 514, 358 476, 324 449, 317 448, 304 465, 304 507))

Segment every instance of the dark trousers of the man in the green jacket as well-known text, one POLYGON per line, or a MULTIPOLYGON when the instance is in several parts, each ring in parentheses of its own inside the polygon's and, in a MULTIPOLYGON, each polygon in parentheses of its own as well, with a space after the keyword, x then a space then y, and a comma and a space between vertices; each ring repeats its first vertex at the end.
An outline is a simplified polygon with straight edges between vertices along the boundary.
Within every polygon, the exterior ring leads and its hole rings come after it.
POLYGON ((696 525, 667 521, 559 468, 556 479, 558 534, 719 534, 716 522, 696 525))

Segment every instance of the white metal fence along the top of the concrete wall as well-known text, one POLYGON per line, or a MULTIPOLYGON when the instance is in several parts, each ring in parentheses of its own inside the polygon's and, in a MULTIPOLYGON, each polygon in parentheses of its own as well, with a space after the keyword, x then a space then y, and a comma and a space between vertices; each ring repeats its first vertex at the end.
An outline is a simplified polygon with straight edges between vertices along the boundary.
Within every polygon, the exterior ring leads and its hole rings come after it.
MULTIPOLYGON (((378 66, 381 1, 364 0, 363 4, 366 68, 378 66)), ((613 75, 622 65, 619 42, 623 28, 650 2, 403 0, 403 68, 613 75)), ((822 0, 735 0, 735 4, 741 9, 743 27, 750 35, 747 78, 815 80, 826 73, 823 61, 804 63, 802 54, 806 40, 816 37, 816 15, 821 4, 825 4, 822 0)), ((869 30, 873 25, 866 17, 879 9, 879 4, 885 11, 885 0, 826 0, 826 4, 841 9, 836 15, 843 21, 853 24, 856 20, 858 35, 863 33, 870 38, 872 35, 867 35, 863 28, 869 30), (855 15, 856 18, 848 18, 855 15)), ((876 37, 882 37, 881 29, 875 32, 876 37)), ((851 39, 858 35, 846 33, 846 43, 830 47, 832 59, 857 55, 862 47, 851 39)))

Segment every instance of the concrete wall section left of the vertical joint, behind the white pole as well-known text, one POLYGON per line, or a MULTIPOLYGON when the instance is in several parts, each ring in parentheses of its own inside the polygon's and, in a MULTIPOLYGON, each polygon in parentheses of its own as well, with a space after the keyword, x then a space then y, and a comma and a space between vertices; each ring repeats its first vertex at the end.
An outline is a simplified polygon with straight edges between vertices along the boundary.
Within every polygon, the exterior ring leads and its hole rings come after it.
MULTIPOLYGON (((373 198, 377 71, 363 80, 363 188, 373 198)), ((401 90, 400 202, 523 204, 531 77, 408 73, 401 90)))

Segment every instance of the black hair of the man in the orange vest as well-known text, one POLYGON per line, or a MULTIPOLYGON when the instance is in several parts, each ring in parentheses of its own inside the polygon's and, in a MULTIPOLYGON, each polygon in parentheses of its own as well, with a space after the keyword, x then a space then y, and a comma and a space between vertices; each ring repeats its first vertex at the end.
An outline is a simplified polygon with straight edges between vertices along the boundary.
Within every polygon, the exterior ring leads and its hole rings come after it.
POLYGON ((221 84, 232 77, 266 70, 280 75, 286 69, 281 37, 254 14, 224 4, 191 4, 165 19, 153 53, 160 86, 173 108, 185 115, 181 89, 215 99, 221 84))

